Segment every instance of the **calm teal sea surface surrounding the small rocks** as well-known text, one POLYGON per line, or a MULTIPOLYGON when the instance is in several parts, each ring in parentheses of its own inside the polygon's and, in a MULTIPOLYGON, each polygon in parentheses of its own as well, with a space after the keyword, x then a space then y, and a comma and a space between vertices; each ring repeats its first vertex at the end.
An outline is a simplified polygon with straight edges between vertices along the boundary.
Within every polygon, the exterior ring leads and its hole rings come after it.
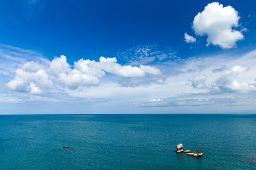
POLYGON ((256 170, 256 115, 0 115, 0 170, 175 169, 256 170))

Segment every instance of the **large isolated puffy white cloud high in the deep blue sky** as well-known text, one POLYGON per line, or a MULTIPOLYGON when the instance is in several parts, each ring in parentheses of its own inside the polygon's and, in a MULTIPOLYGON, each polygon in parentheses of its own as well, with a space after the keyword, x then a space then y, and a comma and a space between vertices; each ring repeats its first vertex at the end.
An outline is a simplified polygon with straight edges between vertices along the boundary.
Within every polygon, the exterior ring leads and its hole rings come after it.
POLYGON ((209 44, 230 49, 236 46, 238 40, 244 38, 241 31, 233 29, 237 27, 240 16, 233 7, 223 7, 219 2, 213 2, 204 7, 193 20, 193 30, 196 35, 207 35, 209 44))

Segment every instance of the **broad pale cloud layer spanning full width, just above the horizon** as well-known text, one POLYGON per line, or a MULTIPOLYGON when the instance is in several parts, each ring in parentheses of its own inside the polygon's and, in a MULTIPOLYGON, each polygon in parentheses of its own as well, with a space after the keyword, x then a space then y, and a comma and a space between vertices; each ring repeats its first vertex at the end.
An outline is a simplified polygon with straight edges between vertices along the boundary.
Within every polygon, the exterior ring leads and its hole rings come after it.
MULTIPOLYGON (((0 48, 0 111, 5 113, 43 113, 48 108, 47 113, 56 113, 55 107, 63 109, 61 113, 225 113, 256 108, 256 50, 236 56, 170 57, 137 66, 120 64, 115 57, 69 64, 64 55, 49 61, 40 53, 8 50, 0 48)), ((168 53, 162 51, 161 56, 168 53)))

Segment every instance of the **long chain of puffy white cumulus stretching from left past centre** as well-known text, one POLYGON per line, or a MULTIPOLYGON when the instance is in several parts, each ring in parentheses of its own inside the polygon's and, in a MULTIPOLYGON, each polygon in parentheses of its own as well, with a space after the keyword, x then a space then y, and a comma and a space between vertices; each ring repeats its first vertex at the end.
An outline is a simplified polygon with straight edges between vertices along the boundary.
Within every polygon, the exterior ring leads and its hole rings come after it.
POLYGON ((52 88, 53 82, 69 88, 98 85, 99 78, 109 72, 121 77, 144 77, 159 75, 159 69, 152 66, 122 66, 117 59, 100 57, 99 62, 80 59, 74 62, 74 68, 67 63, 64 55, 56 57, 49 65, 27 62, 17 69, 13 80, 6 84, 10 90, 33 94, 42 93, 40 88, 52 88))

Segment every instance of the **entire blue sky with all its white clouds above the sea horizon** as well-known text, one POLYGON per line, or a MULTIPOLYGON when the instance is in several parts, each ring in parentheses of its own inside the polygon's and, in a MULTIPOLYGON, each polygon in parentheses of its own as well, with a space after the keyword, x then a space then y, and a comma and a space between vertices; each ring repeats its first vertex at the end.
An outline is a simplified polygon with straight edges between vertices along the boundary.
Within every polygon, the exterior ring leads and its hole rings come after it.
POLYGON ((2 0, 0 114, 256 113, 255 5, 2 0))

